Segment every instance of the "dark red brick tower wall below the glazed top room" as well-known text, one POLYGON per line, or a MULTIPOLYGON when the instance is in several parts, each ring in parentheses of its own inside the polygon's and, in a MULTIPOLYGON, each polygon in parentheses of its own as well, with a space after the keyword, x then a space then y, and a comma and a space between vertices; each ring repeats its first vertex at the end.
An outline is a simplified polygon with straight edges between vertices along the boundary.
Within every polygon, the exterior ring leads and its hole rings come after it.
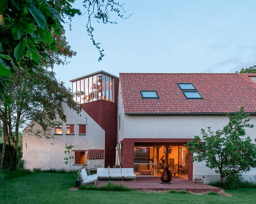
POLYGON ((117 144, 117 100, 119 79, 114 78, 114 103, 106 100, 96 100, 81 104, 95 122, 105 131, 105 167, 115 162, 117 144))

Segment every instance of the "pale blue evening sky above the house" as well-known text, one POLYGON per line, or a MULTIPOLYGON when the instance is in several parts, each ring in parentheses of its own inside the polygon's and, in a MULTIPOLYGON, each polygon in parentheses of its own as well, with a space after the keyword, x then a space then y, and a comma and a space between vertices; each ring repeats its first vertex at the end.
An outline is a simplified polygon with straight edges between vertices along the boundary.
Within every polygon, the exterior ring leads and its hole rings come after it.
MULTIPOLYGON (((72 88, 72 79, 99 70, 119 72, 219 73, 256 65, 256 1, 120 0, 127 19, 111 13, 117 24, 93 20, 99 53, 87 34, 87 15, 64 25, 77 52, 65 66, 55 66, 56 79, 72 88)), ((84 14, 82 0, 74 8, 84 14)))

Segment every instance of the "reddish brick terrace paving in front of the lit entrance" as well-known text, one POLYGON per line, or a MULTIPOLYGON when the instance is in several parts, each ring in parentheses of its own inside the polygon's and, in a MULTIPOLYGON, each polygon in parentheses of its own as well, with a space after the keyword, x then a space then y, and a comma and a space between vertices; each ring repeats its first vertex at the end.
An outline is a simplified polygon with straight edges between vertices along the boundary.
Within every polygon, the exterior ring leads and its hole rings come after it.
MULTIPOLYGON (((135 190, 154 190, 154 191, 169 191, 171 189, 186 190, 191 192, 204 192, 204 191, 221 191, 220 188, 214 186, 208 186, 206 184, 196 184, 194 181, 182 179, 181 177, 175 177, 170 183, 172 184, 160 184, 160 177, 137 177, 136 182, 111 182, 117 185, 124 185, 135 190)), ((108 184, 108 182, 97 182, 97 187, 108 184)))

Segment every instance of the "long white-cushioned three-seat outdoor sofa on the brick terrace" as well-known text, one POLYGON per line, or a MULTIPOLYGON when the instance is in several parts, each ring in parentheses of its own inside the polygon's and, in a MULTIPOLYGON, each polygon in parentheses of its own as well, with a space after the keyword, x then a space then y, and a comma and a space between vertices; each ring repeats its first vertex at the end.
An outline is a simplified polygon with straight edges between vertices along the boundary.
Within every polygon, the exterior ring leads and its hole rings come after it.
POLYGON ((99 180, 133 180, 136 181, 136 174, 133 168, 97 168, 99 180))

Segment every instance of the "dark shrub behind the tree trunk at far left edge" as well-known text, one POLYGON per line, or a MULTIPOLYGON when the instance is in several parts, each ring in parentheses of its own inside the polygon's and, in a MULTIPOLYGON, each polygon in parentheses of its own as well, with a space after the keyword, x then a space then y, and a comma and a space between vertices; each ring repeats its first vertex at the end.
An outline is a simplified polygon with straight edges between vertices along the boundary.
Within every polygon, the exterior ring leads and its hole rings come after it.
MULTIPOLYGON (((3 148, 3 143, 0 143, 0 149, 3 148)), ((18 146, 18 152, 19 152, 19 157, 22 158, 22 148, 18 146)), ((14 155, 14 150, 12 145, 6 145, 6 150, 5 150, 5 157, 4 157, 4 162, 3 162, 3 170, 13 170, 16 167, 16 155, 14 155)), ((21 169, 22 166, 19 166, 19 169, 21 169)))

